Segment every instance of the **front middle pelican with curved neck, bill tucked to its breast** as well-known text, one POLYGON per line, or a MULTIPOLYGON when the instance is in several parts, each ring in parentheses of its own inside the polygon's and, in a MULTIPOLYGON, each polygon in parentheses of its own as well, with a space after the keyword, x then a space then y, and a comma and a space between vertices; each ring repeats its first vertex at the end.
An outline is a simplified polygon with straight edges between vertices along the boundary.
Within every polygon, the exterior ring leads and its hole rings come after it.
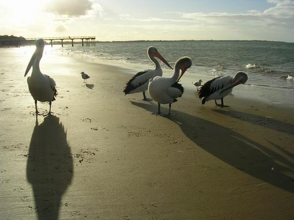
POLYGON ((180 78, 185 71, 192 66, 192 61, 189 57, 181 57, 174 65, 174 73, 172 77, 156 76, 149 80, 148 92, 153 100, 158 102, 158 111, 155 114, 161 114, 160 104, 169 103, 169 114, 171 114, 172 103, 176 102, 176 98, 181 97, 184 93, 184 88, 179 84, 180 78), (181 75, 179 77, 181 70, 181 75))

